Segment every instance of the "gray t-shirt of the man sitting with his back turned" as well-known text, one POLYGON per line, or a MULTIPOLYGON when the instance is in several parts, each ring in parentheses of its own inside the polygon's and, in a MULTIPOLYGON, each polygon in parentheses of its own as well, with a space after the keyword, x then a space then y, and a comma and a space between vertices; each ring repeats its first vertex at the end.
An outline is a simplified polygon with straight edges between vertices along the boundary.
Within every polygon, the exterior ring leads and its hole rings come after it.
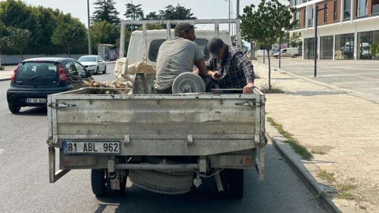
POLYGON ((202 59, 204 53, 193 41, 180 37, 165 41, 158 52, 155 89, 171 87, 177 76, 192 72, 194 63, 202 59))

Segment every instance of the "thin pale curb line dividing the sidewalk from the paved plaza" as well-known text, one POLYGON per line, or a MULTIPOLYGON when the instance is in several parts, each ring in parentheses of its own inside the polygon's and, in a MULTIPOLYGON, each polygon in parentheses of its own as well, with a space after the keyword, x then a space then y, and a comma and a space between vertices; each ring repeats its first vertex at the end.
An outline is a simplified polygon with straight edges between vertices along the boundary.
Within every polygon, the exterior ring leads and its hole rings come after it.
MULTIPOLYGON (((254 63, 258 64, 260 66, 264 66, 264 67, 268 68, 268 65, 262 64, 262 63, 260 63, 258 61, 254 61, 254 63)), ((271 67, 271 69, 277 70, 277 71, 279 71, 282 74, 286 74, 286 75, 292 76, 294 78, 298 78, 298 79, 310 82, 312 84, 316 84, 316 85, 319 85, 319 86, 322 86, 322 87, 326 87, 326 88, 328 88, 330 90, 333 90, 333 91, 345 93, 347 95, 354 96, 356 98, 364 99, 364 100, 369 101, 369 102, 374 103, 374 104, 379 104, 378 102, 375 102, 373 100, 369 100, 367 98, 361 97, 359 93, 357 93, 357 92, 355 92, 353 90, 342 89, 342 88, 339 88, 339 87, 336 87, 336 86, 333 86, 333 85, 325 84, 325 83, 322 83, 322 82, 319 82, 319 81, 316 81, 316 80, 312 80, 312 79, 307 78, 307 77, 303 77, 303 76, 299 76, 299 75, 296 75, 296 74, 293 74, 293 73, 289 73, 287 71, 283 71, 283 70, 281 70, 279 68, 271 67)))

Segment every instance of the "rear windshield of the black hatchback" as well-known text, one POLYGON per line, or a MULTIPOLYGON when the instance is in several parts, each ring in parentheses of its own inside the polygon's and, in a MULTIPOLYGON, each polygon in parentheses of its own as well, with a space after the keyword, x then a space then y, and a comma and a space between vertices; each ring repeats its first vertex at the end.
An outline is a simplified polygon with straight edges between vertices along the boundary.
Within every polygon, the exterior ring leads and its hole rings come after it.
POLYGON ((15 84, 53 86, 59 84, 58 66, 53 62, 27 62, 18 66, 15 84))

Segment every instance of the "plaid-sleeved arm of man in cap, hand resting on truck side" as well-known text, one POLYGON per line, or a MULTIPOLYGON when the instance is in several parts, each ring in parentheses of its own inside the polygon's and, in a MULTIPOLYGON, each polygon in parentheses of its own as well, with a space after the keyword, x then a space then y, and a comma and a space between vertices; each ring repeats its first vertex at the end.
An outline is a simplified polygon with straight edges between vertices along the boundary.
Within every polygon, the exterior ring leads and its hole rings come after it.
POLYGON ((251 64, 251 62, 247 60, 247 58, 243 55, 242 52, 238 52, 237 54, 235 54, 234 57, 237 67, 243 71, 246 77, 247 85, 243 88, 243 93, 250 94, 253 92, 255 80, 253 64, 251 64))

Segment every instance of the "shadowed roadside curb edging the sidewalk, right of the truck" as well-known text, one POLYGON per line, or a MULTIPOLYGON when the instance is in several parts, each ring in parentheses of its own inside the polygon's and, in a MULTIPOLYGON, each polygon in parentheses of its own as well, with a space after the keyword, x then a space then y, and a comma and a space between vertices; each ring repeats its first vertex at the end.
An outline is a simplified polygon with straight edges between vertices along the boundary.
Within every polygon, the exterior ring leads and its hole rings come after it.
MULTIPOLYGON (((279 154, 284 158, 286 163, 292 169, 292 171, 299 177, 299 179, 304 183, 305 187, 315 196, 316 201, 320 204, 326 212, 328 213, 342 213, 341 210, 333 203, 333 201, 325 195, 325 191, 323 191, 318 184, 313 180, 313 176, 310 175, 309 172, 304 171, 298 163, 290 157, 288 153, 281 147, 285 141, 280 139, 275 139, 271 137, 266 132, 266 137, 269 141, 271 141, 272 145, 279 152, 279 154)), ((292 150, 292 149, 291 149, 292 150)))

